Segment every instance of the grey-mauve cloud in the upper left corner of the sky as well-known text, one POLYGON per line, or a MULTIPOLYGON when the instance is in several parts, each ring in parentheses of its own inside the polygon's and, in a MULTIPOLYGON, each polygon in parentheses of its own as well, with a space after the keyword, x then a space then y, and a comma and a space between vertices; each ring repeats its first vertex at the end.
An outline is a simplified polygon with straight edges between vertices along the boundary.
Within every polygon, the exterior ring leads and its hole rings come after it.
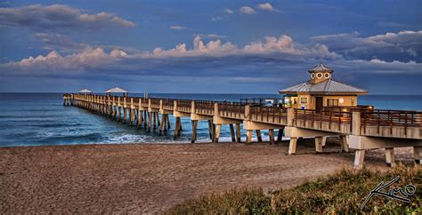
POLYGON ((48 6, 31 4, 16 8, 0 8, 0 25, 36 29, 135 26, 134 22, 124 20, 109 12, 88 14, 64 4, 48 6))

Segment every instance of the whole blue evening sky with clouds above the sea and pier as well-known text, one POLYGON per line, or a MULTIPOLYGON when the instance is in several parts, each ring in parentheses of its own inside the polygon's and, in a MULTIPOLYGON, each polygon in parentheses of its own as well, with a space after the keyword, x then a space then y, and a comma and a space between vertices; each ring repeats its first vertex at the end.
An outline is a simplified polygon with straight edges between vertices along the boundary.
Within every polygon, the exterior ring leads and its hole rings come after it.
POLYGON ((0 92, 422 94, 422 2, 2 1, 0 92))

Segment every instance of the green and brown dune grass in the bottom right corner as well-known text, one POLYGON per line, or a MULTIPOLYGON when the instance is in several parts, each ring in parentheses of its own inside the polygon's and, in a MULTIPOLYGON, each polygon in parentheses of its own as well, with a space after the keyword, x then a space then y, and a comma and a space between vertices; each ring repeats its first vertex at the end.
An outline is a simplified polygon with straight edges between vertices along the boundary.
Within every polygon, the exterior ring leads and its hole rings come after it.
MULTIPOLYGON (((382 190, 386 192, 386 189, 382 190)), ((400 194, 397 194, 400 195, 400 194)), ((202 196, 175 205, 168 212, 177 214, 278 214, 278 213, 422 213, 422 167, 399 164, 387 171, 342 170, 326 178, 268 194, 262 188, 230 190, 202 196), (416 187, 410 203, 374 195, 361 211, 361 203, 381 182, 400 176, 391 187, 416 187)))

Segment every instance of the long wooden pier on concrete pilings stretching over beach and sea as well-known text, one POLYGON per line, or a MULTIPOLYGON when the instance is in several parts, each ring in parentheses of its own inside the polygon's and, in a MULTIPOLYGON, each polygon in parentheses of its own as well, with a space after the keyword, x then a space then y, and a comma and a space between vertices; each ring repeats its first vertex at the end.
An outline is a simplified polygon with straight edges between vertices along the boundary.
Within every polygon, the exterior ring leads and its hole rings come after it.
POLYGON ((385 148, 385 161, 394 165, 394 147, 413 147, 416 163, 422 161, 422 112, 378 110, 371 107, 324 108, 322 110, 264 107, 260 104, 210 100, 145 99, 95 94, 65 94, 63 104, 85 108, 118 122, 159 133, 170 129, 168 115, 175 118, 174 139, 182 131, 181 117, 191 119, 191 142, 197 137, 199 121, 207 121, 211 141, 218 142, 222 126, 228 125, 231 140, 240 142, 240 129, 247 131, 247 143, 255 131, 268 130, 270 143, 290 138, 288 154, 296 153, 298 138, 315 139, 315 151, 323 152, 329 136, 341 137, 341 148, 355 150, 354 166, 361 168, 367 149, 385 148), (274 137, 278 131, 277 139, 274 137))

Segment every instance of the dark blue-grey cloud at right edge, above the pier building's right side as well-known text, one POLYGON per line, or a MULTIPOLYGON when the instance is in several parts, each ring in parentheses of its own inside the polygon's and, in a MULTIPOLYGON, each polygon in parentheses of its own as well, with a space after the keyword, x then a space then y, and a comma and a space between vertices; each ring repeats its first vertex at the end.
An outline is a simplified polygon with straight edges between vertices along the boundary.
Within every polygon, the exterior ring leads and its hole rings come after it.
POLYGON ((345 58, 385 61, 415 60, 422 62, 422 31, 400 31, 363 37, 358 32, 327 36, 313 36, 314 44, 326 44, 345 58))

